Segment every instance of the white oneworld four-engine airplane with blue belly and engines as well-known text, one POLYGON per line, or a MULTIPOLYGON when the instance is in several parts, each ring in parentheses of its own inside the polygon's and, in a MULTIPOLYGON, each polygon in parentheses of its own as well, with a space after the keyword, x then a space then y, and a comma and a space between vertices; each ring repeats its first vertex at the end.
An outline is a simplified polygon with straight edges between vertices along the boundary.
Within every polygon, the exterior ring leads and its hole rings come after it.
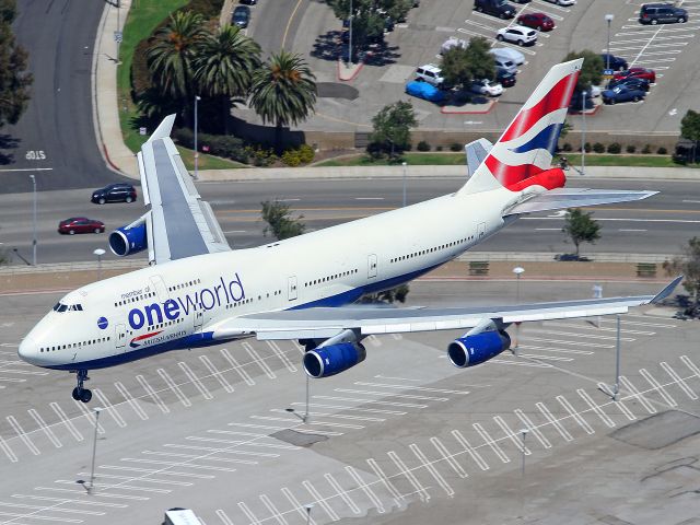
POLYGON ((583 60, 551 68, 495 144, 466 147, 469 178, 457 191, 327 230, 232 250, 170 139, 166 117, 138 154, 150 209, 109 236, 120 256, 148 249, 150 266, 68 293, 23 339, 24 361, 77 374, 168 350, 256 337, 296 339, 303 365, 325 377, 361 362, 371 334, 468 329, 448 345, 455 366, 510 348, 512 323, 625 313, 657 295, 454 308, 352 306, 368 292, 410 281, 521 215, 644 199, 655 191, 564 189, 551 168, 583 60))

